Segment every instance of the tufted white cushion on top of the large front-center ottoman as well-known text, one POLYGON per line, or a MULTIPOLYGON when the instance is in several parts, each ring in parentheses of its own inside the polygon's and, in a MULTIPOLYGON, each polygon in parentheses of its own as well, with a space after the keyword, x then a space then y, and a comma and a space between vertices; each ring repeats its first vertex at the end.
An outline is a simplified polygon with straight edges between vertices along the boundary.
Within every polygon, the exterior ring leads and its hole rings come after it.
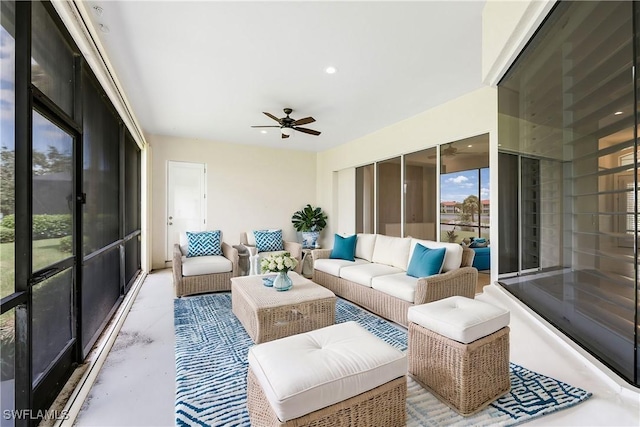
POLYGON ((374 389, 407 373, 407 357, 356 322, 255 345, 249 369, 280 421, 374 389))

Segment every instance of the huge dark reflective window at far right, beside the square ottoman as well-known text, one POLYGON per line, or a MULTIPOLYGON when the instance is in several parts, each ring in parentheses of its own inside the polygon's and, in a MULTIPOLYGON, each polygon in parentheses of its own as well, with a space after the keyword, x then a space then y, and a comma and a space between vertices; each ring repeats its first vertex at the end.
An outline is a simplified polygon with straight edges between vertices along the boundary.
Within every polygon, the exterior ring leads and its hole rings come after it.
POLYGON ((559 2, 499 85, 498 127, 523 158, 521 271, 502 283, 637 383, 634 7, 559 2))

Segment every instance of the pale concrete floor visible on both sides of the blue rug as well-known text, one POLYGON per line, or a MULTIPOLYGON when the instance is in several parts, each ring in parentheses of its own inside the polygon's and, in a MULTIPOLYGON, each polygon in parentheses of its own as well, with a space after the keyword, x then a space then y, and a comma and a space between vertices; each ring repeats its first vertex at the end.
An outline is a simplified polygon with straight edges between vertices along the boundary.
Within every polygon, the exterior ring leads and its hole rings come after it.
MULTIPOLYGON (((175 358, 171 271, 149 274, 74 425, 173 426, 175 358)), ((530 426, 638 426, 640 394, 543 327, 497 285, 478 299, 511 311, 511 361, 593 397, 530 426)))

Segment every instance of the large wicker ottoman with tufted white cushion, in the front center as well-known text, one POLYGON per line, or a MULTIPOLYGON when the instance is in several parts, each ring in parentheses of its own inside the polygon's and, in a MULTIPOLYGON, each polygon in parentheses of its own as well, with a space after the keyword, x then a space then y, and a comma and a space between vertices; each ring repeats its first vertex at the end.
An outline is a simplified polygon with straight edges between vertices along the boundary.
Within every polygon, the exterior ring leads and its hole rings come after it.
POLYGON ((257 344, 248 358, 253 427, 406 423, 406 355, 356 322, 257 344))

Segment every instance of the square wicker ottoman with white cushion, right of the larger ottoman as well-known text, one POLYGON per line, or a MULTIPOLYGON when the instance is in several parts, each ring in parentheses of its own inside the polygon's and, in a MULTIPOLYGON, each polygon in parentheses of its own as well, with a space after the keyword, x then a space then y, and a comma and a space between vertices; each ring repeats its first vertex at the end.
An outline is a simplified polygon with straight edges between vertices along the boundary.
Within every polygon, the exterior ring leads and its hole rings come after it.
POLYGON ((509 311, 455 296, 409 308, 409 374, 460 415, 511 389, 509 311))

